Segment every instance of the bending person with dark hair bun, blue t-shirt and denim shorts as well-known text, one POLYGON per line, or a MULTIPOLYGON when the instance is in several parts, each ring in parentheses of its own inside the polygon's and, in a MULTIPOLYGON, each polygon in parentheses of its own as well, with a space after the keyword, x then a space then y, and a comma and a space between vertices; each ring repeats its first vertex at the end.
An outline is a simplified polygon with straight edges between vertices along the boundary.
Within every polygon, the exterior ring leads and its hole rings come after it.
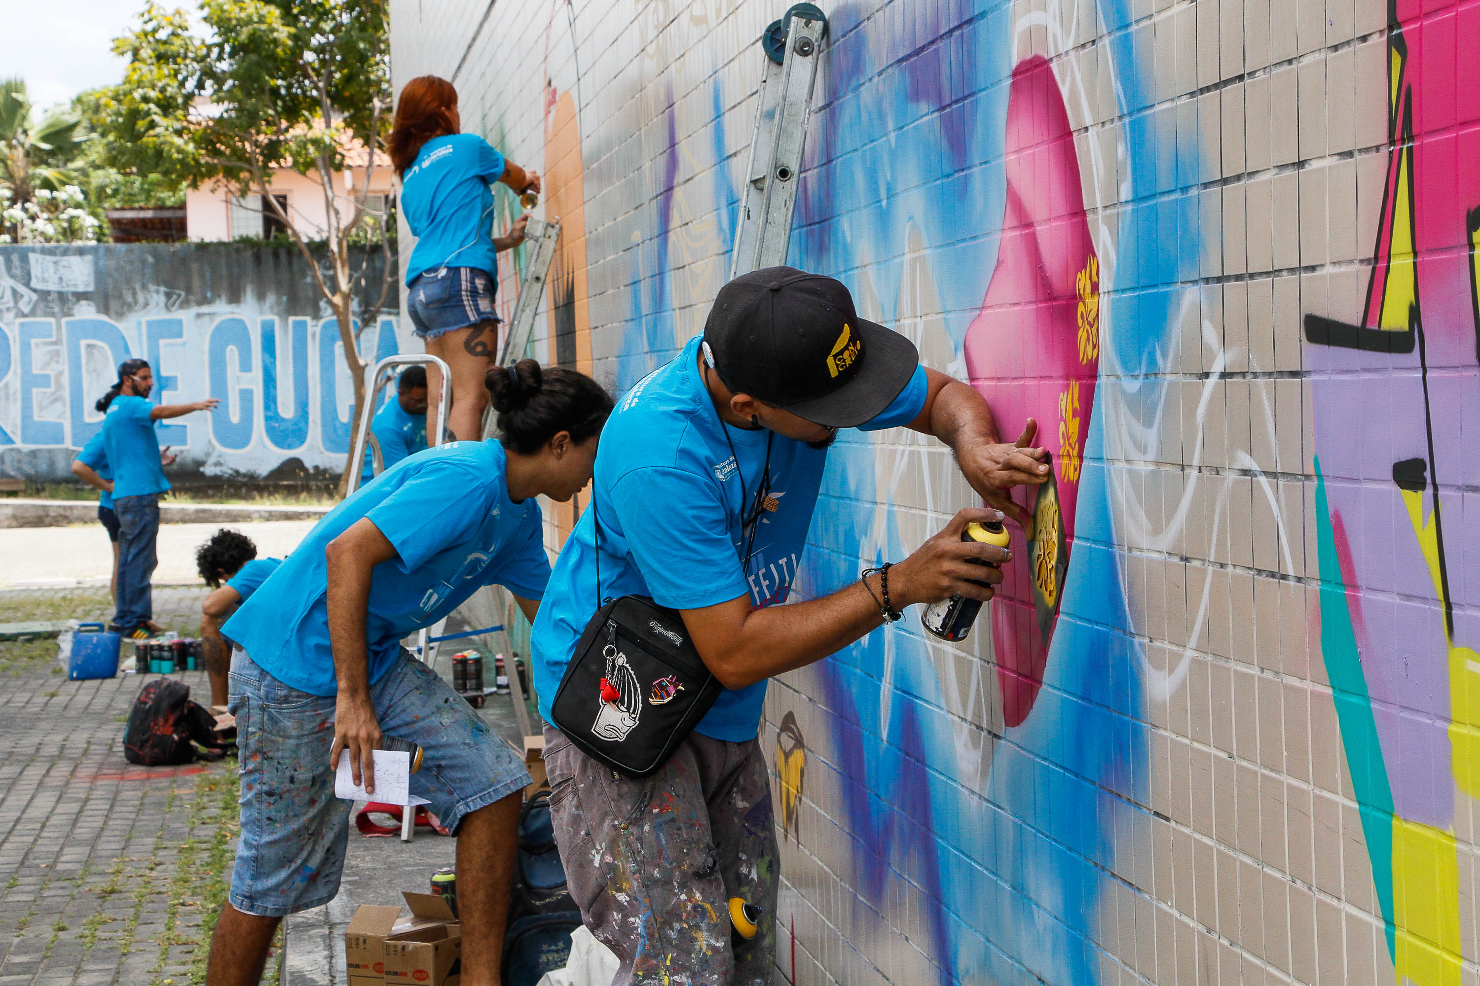
POLYGON ((207 983, 256 983, 278 921, 339 891, 349 757, 373 792, 373 751, 425 751, 411 794, 457 837, 462 982, 499 982, 518 843, 518 754, 400 646, 500 584, 534 619, 549 579, 534 497, 591 479, 611 398, 533 359, 490 370, 500 441, 411 455, 332 510, 222 627, 238 645, 231 713, 241 749, 241 841, 207 983))

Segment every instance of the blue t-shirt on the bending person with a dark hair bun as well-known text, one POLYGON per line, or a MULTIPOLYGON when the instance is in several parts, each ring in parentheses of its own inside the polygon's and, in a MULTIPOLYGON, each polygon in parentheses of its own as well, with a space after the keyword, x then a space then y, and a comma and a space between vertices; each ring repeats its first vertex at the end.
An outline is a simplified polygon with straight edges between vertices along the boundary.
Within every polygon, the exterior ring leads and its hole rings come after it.
POLYGON ((494 582, 540 599, 551 565, 534 498, 509 500, 497 441, 417 452, 329 511, 244 602, 222 633, 263 671, 311 695, 334 695, 324 548, 361 517, 397 557, 374 568, 366 621, 373 684, 407 634, 431 627, 494 582))

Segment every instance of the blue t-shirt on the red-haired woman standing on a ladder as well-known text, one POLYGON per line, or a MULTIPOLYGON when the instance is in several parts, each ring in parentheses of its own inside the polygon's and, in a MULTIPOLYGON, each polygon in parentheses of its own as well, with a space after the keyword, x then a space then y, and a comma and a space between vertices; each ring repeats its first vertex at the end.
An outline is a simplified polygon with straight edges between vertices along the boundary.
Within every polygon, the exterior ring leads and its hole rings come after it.
POLYGON ((493 273, 493 189, 503 155, 477 133, 432 137, 401 176, 401 213, 416 237, 406 282, 434 268, 493 273))

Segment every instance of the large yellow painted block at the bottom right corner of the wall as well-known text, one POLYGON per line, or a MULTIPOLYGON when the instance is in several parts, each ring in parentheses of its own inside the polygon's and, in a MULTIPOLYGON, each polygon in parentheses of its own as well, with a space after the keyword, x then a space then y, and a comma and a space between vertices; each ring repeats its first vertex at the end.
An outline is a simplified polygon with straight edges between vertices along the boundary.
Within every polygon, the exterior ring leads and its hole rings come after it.
POLYGON ((1393 919, 1399 986, 1459 986, 1459 857, 1455 837, 1393 816, 1393 919))

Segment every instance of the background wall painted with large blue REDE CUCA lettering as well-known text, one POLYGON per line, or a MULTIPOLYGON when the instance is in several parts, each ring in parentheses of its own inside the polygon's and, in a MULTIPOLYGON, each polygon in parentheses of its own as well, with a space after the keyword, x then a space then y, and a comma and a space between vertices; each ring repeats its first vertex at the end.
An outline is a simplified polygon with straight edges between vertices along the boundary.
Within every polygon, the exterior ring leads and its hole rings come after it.
MULTIPOLYGON (((155 404, 213 396, 212 415, 160 424, 172 475, 249 480, 337 472, 354 389, 337 322, 283 250, 0 247, 0 470, 70 477, 102 426, 93 404, 124 359, 148 359, 155 404), (296 469, 293 467, 296 463, 296 469)), ((392 293, 392 302, 395 294, 392 293)), ((403 352, 400 319, 357 327, 361 353, 403 352)), ((417 346, 419 349, 419 346, 417 346)))

